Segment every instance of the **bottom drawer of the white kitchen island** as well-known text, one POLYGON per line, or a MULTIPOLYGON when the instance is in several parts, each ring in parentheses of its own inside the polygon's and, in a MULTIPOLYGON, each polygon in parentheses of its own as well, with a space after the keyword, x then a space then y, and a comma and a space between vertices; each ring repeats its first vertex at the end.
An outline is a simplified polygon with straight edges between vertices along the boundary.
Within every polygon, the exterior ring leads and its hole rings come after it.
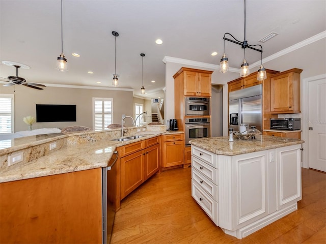
POLYGON ((200 186, 192 180, 192 197, 206 212, 209 218, 219 226, 218 203, 210 198, 204 191, 200 190, 200 186))

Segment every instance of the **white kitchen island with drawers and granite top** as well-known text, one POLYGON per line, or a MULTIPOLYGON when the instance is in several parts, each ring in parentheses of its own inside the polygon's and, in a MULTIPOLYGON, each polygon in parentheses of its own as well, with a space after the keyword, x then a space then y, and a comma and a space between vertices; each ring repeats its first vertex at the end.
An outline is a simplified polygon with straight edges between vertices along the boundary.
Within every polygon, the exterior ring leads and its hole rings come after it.
POLYGON ((216 226, 239 239, 297 209, 300 139, 191 140, 192 196, 216 226))

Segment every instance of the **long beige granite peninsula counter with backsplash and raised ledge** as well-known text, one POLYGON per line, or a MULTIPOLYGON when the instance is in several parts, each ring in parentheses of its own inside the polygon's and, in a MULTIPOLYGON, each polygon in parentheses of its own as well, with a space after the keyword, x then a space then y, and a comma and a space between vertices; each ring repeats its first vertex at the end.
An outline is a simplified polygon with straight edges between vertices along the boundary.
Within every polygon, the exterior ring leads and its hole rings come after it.
POLYGON ((15 146, 0 150, 0 182, 106 167, 118 146, 161 134, 183 133, 167 132, 163 130, 165 128, 151 127, 141 132, 137 132, 138 128, 131 128, 125 137, 133 134, 143 134, 144 137, 123 142, 112 141, 119 138, 119 129, 11 139, 15 146), (50 151, 49 143, 54 141, 57 142, 57 148, 50 151), (8 166, 8 156, 19 152, 23 152, 23 161, 8 166))

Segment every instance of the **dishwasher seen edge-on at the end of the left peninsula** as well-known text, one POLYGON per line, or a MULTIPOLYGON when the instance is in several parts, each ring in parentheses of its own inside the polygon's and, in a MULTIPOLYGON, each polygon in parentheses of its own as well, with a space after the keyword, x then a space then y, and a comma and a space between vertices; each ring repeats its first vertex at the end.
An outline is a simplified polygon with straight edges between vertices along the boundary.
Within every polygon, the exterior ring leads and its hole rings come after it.
POLYGON ((102 168, 102 243, 110 243, 114 218, 116 211, 114 209, 114 196, 117 195, 117 167, 118 151, 114 152, 107 167, 102 168), (114 157, 115 156, 115 157, 114 157))

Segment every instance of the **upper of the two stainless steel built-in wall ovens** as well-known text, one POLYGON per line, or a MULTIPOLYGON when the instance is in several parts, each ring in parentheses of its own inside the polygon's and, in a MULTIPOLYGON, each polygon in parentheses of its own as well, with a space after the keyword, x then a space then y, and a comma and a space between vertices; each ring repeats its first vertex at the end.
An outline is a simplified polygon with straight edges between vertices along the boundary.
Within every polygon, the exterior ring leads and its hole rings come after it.
POLYGON ((210 115, 210 98, 186 97, 185 115, 210 115))

